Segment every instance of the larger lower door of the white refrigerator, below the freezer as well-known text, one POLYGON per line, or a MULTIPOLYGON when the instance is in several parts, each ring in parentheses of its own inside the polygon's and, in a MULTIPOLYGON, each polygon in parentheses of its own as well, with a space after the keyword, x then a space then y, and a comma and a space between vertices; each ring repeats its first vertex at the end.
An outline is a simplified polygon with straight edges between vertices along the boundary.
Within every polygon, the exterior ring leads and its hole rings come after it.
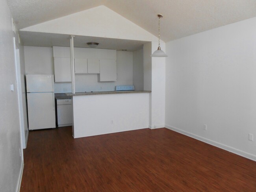
POLYGON ((55 128, 54 92, 27 93, 30 130, 55 128))

